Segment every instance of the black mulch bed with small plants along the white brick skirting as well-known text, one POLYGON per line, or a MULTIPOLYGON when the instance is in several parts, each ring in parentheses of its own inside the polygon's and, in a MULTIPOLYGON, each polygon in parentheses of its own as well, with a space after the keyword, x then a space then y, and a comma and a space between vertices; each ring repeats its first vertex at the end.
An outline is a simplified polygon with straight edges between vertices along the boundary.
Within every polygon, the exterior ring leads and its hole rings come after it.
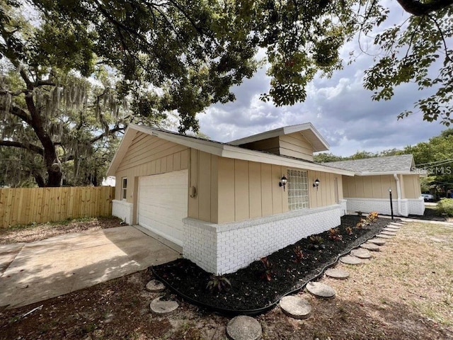
POLYGON ((309 238, 306 238, 267 256, 268 261, 273 263, 270 281, 263 277, 265 270, 261 261, 226 274, 231 288, 225 293, 210 293, 207 290, 210 273, 187 259, 178 259, 152 268, 173 290, 201 305, 219 310, 257 310, 272 305, 293 290, 303 288, 309 280, 319 276, 326 266, 334 263, 339 254, 359 246, 390 222, 386 218, 379 218, 366 229, 357 229, 355 225, 359 219, 360 217, 352 215, 341 218, 341 225, 338 227, 339 234, 343 237, 341 241, 329 239, 328 231, 319 234, 323 238, 323 249, 314 249, 309 238), (346 227, 352 227, 352 234, 348 234, 346 227), (300 246, 304 254, 299 263, 294 261, 296 246, 300 246))

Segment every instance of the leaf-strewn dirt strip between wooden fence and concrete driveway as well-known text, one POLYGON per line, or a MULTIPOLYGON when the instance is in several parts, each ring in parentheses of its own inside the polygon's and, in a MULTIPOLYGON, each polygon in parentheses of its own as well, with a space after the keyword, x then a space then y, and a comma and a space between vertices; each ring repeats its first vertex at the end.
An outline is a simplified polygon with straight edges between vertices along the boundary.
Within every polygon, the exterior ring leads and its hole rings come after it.
POLYGON ((29 243, 71 232, 118 227, 120 222, 117 217, 85 217, 39 225, 16 225, 0 228, 0 244, 29 243))

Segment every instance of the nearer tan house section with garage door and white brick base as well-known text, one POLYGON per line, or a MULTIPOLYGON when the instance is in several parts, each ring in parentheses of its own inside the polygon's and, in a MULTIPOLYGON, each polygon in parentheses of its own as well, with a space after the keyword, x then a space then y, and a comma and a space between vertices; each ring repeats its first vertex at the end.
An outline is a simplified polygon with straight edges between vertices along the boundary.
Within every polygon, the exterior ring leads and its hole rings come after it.
POLYGON ((340 225, 354 172, 314 163, 327 149, 310 123, 229 143, 129 125, 108 169, 113 215, 206 271, 231 273, 340 225))

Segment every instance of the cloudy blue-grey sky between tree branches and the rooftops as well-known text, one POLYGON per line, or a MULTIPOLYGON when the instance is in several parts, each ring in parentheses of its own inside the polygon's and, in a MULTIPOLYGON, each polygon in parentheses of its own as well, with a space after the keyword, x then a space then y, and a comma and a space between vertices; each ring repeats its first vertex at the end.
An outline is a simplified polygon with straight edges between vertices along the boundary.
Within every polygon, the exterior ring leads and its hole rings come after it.
MULTIPOLYGON (((386 26, 406 16, 395 2, 391 3, 386 26)), ((343 49, 346 59, 350 50, 357 48, 355 44, 343 49)), ((399 86, 391 101, 372 101, 372 91, 362 85, 364 71, 372 62, 369 55, 361 55, 331 79, 316 78, 309 85, 304 103, 279 108, 259 99, 270 83, 265 69, 260 69, 253 79, 234 88, 234 103, 216 104, 205 114, 200 113, 200 130, 212 140, 229 142, 285 125, 311 122, 328 141, 330 152, 340 156, 415 145, 445 130, 437 122, 424 122, 420 113, 396 119, 398 113, 412 109, 413 103, 422 98, 416 85, 399 86)))

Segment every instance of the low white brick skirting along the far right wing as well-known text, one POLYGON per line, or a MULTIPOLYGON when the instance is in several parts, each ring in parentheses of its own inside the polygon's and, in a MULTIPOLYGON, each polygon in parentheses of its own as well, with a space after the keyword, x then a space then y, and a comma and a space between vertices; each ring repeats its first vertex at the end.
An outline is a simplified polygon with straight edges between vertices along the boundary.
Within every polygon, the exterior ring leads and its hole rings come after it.
MULTIPOLYGON (((356 211, 361 212, 372 212, 377 211, 382 215, 390 215, 390 200, 383 198, 345 198, 348 212, 355 213, 356 211)), ((425 211, 425 203, 423 203, 423 198, 418 199, 401 199, 399 204, 398 212, 398 199, 392 199, 394 206, 394 215, 395 216, 407 216, 412 215, 423 215, 425 211)))

